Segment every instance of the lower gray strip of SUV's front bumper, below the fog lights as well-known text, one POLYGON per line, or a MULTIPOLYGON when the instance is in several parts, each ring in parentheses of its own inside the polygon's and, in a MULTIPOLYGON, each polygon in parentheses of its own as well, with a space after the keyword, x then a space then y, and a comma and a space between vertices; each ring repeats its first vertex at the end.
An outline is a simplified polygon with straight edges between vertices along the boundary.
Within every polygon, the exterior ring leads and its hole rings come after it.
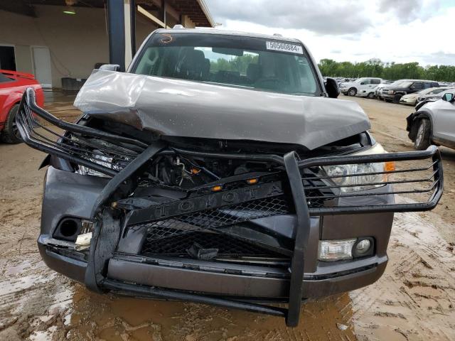
MULTIPOLYGON (((384 225, 382 227, 387 230, 384 225)), ((47 235, 41 235, 38 239, 38 248, 45 264, 60 274, 84 283, 87 262, 77 259, 74 254, 69 256, 68 250, 52 243, 47 235)), ((284 276, 280 268, 242 266, 240 270, 238 266, 221 265, 215 261, 205 261, 201 266, 201 261, 195 259, 173 259, 171 263, 166 262, 169 259, 165 258, 148 261, 146 263, 144 257, 117 255, 109 260, 107 280, 263 302, 289 300, 289 278, 284 276), (283 276, 263 276, 264 271, 283 276)), ((356 261, 320 262, 316 271, 305 272, 302 297, 322 298, 368 286, 382 276, 386 264, 386 255, 356 261)))

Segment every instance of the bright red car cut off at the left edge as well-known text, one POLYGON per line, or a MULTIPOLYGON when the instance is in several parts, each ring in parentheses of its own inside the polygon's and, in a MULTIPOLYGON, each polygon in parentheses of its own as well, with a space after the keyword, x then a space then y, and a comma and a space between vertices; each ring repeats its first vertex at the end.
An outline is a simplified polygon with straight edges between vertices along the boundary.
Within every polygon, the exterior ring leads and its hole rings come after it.
POLYGON ((0 70, 0 138, 8 144, 18 144, 21 137, 16 127, 16 114, 23 92, 33 87, 36 103, 44 104, 41 85, 30 73, 0 70))

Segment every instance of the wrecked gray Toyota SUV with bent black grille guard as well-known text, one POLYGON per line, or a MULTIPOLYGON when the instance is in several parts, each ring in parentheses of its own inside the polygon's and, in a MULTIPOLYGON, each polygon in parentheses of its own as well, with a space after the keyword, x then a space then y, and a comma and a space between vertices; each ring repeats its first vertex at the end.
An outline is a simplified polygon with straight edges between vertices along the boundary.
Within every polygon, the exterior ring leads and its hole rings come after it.
POLYGON ((159 29, 127 72, 94 70, 72 124, 23 95, 48 153, 38 247, 98 293, 299 322, 382 275, 394 212, 442 194, 435 146, 386 153, 299 40, 159 29), (274 304, 287 303, 286 308, 274 304))

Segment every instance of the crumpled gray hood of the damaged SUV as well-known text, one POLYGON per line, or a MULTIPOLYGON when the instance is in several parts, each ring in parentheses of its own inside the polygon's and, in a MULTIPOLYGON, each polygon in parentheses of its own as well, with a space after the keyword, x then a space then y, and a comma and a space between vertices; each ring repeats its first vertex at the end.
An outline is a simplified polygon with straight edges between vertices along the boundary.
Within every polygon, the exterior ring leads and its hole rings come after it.
POLYGON ((92 117, 164 136, 299 144, 318 148, 370 129, 360 106, 124 72, 95 70, 75 107, 92 117))

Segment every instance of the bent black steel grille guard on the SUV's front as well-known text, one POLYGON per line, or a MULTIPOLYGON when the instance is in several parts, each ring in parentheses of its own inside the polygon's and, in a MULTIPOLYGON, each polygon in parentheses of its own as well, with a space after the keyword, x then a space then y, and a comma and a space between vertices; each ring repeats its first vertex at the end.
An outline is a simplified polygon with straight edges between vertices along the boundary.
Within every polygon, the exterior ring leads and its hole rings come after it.
MULTIPOLYGON (((153 159, 163 152, 163 144, 157 144, 157 146, 151 148, 146 146, 140 141, 134 139, 121 138, 121 142, 125 144, 132 144, 137 147, 142 148, 144 151, 137 155, 137 161, 132 161, 121 171, 114 171, 105 166, 100 166, 100 164, 87 160, 87 158, 79 158, 73 156, 73 154, 68 150, 62 150, 59 148, 58 144, 55 146, 48 146, 47 144, 40 141, 40 139, 31 139, 29 136, 30 125, 27 124, 26 119, 27 115, 30 118, 31 112, 35 112, 39 117, 42 117, 46 121, 49 121, 52 124, 60 127, 61 129, 66 129, 76 134, 82 134, 86 136, 97 137, 100 139, 105 139, 107 141, 112 141, 117 139, 120 141, 120 136, 115 136, 112 134, 105 133, 97 129, 88 128, 85 126, 79 126, 77 124, 68 124, 67 122, 61 121, 53 117, 45 110, 39 108, 35 102, 34 92, 31 89, 28 89, 23 95, 21 106, 19 109, 18 115, 18 129, 23 138, 23 140, 31 146, 40 151, 45 151, 46 153, 53 154, 55 156, 65 158, 66 160, 72 161, 74 163, 81 164, 83 166, 90 167, 96 171, 102 171, 102 173, 107 173, 113 178, 106 185, 106 190, 103 193, 100 193, 100 199, 97 200, 96 207, 93 207, 92 213, 95 215, 96 212, 100 212, 102 205, 108 201, 109 195, 112 195, 114 191, 118 188, 119 184, 124 180, 130 178, 134 171, 137 171, 139 167, 144 165, 146 161, 153 159), (104 168, 104 169, 103 169, 104 168)), ((291 259, 291 278, 290 278, 290 288, 289 288, 289 306, 287 309, 269 306, 269 305, 259 305, 254 303, 245 303, 242 301, 228 300, 224 298, 213 298, 210 296, 203 296, 193 293, 181 293, 178 291, 173 291, 170 289, 164 288, 145 288, 144 286, 133 286, 127 283, 122 283, 118 281, 112 281, 107 278, 100 276, 99 272, 90 271, 91 274, 86 274, 87 279, 90 280, 90 287, 92 290, 102 288, 112 290, 112 291, 127 291, 138 296, 152 296, 159 298, 168 298, 176 300, 186 300, 193 301, 198 303, 207 303, 213 305, 220 305, 226 308, 237 308, 242 310, 253 311, 256 313, 266 313, 269 315, 279 315, 284 316, 287 321, 288 326, 296 326, 299 322, 300 308, 302 302, 302 286, 304 278, 304 255, 306 250, 306 245, 308 242, 309 234, 309 224, 310 224, 310 215, 326 215, 326 214, 352 214, 360 212, 406 212, 406 211, 423 211, 431 210, 437 205, 439 199, 442 195, 443 190, 443 173, 441 166, 441 156, 436 146, 430 146, 426 151, 413 151, 413 152, 402 152, 402 153, 386 153, 378 155, 361 155, 361 156, 328 156, 322 158, 309 158, 306 160, 298 160, 298 155, 291 151, 284 155, 284 157, 277 155, 258 155, 258 154, 237 154, 237 153, 202 153, 198 151, 186 151, 183 149, 173 148, 174 153, 179 154, 188 154, 188 155, 198 155, 198 156, 207 156, 215 158, 232 158, 232 159, 255 159, 261 161, 271 161, 284 166, 284 169, 287 174, 287 180, 291 187, 292 199, 296 209, 297 215, 297 227, 294 241, 294 251, 291 259), (375 163, 375 162, 386 162, 386 161, 417 161, 417 160, 426 160, 432 159, 432 164, 430 167, 433 168, 432 186, 430 190, 433 191, 431 197, 427 202, 413 202, 413 203, 404 203, 404 204, 390 204, 390 205, 359 205, 359 206, 333 206, 333 207, 316 207, 310 208, 308 206, 307 200, 309 199, 306 196, 305 190, 305 177, 302 181, 302 171, 308 168, 321 167, 321 166, 331 166, 331 165, 348 165, 355 163, 375 163), (90 278, 92 277, 92 278, 90 278)), ((428 168, 410 168, 406 171, 388 171, 388 172, 377 172, 378 174, 390 174, 390 173, 402 173, 402 172, 418 172, 428 168)), ((353 175, 356 176, 356 175, 353 175)), ((327 178, 336 178, 336 176, 316 176, 315 178, 327 179, 327 178)), ((311 178, 309 178, 311 180, 311 178)), ((430 180, 430 179, 427 179, 430 180)), ((422 180, 411 180, 410 182, 418 182, 422 180)), ((386 182, 387 183, 387 182, 386 182)), ((396 183, 396 182, 390 182, 396 183)), ((400 181, 398 181, 400 183, 400 181)), ((405 182, 403 182, 405 183, 405 182)), ((327 187, 327 186, 325 186, 327 187)), ((341 188, 342 185, 330 186, 341 188)), ((371 193, 366 192, 365 195, 371 195, 371 193)), ((402 191, 400 193, 417 193, 415 190, 402 191)), ((373 193, 375 194, 375 193, 373 193)), ((390 193, 376 193, 376 194, 394 194, 390 193)), ((354 197, 355 195, 334 195, 335 197, 354 197)), ((96 224, 94 231, 94 237, 92 238, 92 244, 90 248, 90 257, 87 264, 87 269, 95 269, 93 265, 95 263, 96 257, 95 249, 102 249, 105 247, 105 241, 102 238, 97 238, 100 236, 100 229, 102 229, 102 224, 96 224)), ((112 241, 109 241, 112 242, 112 241)))

